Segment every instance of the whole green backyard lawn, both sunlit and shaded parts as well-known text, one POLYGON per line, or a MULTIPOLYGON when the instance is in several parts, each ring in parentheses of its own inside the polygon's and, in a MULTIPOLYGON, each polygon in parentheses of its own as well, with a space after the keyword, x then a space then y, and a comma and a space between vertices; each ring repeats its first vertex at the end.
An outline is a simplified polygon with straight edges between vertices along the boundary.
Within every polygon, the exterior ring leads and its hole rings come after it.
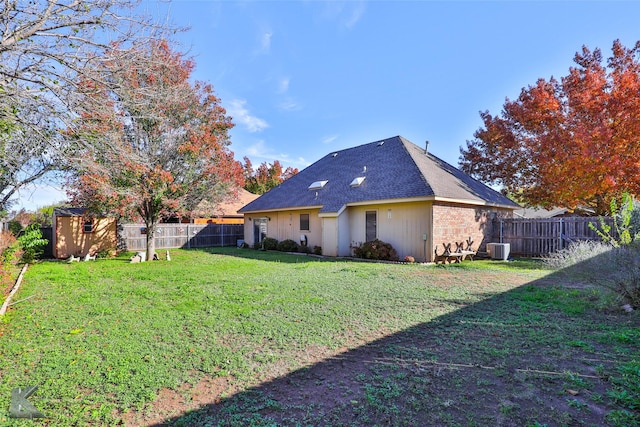
POLYGON ((536 262, 171 256, 30 266, 0 424, 640 425, 637 312, 536 262))

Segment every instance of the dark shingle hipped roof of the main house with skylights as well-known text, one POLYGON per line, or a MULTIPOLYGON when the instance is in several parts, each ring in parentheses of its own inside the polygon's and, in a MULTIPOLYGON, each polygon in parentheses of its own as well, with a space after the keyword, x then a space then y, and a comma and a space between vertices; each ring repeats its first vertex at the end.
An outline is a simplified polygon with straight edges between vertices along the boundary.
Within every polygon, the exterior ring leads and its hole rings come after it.
POLYGON ((519 207, 444 160, 395 136, 329 153, 239 212, 319 207, 320 212, 329 213, 350 203, 425 197, 519 207), (357 177, 365 180, 352 187, 357 177), (322 189, 309 190, 313 182, 324 180, 328 182, 322 189))

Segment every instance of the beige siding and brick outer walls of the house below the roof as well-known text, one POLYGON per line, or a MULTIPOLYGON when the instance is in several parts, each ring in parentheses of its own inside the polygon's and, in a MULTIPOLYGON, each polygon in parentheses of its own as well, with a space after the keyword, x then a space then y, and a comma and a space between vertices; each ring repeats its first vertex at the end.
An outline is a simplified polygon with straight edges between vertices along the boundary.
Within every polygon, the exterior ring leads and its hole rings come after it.
MULTIPOLYGON (((305 234, 309 247, 321 246, 323 255, 349 256, 351 246, 365 241, 367 211, 377 213, 377 237, 391 243, 400 259, 407 255, 419 261, 433 261, 435 246, 462 242, 469 237, 473 249, 484 250, 496 216, 508 217, 508 209, 469 206, 445 202, 380 203, 347 207, 338 216, 319 217, 319 210, 259 212, 245 215, 245 241, 254 243, 253 220, 269 218, 267 236, 278 241, 300 241, 305 234), (300 214, 309 214, 309 231, 300 230, 300 214), (249 219, 251 218, 251 219, 249 219), (426 242, 423 236, 426 234, 426 242)), ((455 249, 455 244, 452 245, 455 249)))

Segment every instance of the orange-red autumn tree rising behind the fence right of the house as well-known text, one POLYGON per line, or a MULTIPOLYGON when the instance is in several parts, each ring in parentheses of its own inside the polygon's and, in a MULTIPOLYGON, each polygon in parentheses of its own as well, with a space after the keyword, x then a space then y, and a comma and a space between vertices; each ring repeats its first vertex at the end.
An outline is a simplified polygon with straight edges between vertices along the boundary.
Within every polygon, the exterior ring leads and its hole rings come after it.
POLYGON ((640 42, 612 51, 604 64, 583 47, 560 81, 523 88, 500 116, 481 113, 461 168, 527 205, 607 214, 613 197, 640 194, 640 42))

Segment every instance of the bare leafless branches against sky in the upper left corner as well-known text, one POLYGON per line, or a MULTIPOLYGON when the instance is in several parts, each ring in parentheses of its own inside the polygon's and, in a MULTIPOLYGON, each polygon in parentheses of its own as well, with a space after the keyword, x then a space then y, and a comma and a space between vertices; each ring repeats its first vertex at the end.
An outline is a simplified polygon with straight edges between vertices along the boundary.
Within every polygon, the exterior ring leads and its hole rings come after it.
POLYGON ((0 209, 80 148, 63 133, 87 108, 79 102, 90 102, 77 96, 78 82, 109 83, 95 72, 99 58, 169 31, 129 0, 0 2, 0 209))

